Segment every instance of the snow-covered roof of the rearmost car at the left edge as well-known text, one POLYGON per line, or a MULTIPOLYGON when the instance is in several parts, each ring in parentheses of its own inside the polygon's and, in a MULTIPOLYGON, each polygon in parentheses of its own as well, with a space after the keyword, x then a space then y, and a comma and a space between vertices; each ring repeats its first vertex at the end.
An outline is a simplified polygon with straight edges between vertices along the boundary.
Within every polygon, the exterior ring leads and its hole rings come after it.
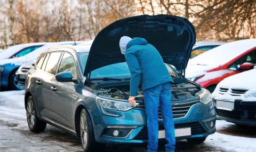
POLYGON ((50 44, 50 43, 38 42, 38 43, 26 43, 26 44, 13 45, 8 47, 4 51, 0 52, 0 59, 9 59, 13 54, 19 52, 22 49, 25 49, 26 47, 45 45, 45 44, 50 44))

